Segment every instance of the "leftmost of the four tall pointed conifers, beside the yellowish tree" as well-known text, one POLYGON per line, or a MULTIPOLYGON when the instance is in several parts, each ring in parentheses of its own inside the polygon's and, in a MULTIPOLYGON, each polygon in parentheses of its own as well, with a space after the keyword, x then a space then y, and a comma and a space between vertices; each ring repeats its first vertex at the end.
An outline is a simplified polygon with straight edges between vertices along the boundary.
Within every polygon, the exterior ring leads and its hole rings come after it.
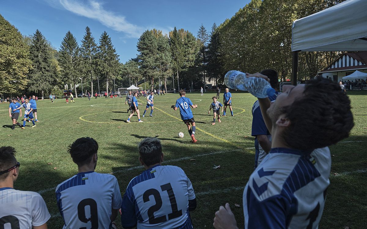
POLYGON ((37 29, 32 37, 30 46, 30 59, 33 69, 29 72, 28 88, 33 92, 50 93, 56 84, 57 75, 52 74, 52 49, 46 38, 37 29))

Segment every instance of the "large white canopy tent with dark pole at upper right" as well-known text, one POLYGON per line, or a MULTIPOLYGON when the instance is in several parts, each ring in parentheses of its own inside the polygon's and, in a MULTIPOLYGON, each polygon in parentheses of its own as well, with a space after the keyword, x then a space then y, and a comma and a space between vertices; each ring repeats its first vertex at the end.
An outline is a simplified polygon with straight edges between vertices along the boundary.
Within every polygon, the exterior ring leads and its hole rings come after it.
POLYGON ((293 84, 299 51, 367 51, 367 1, 347 0, 293 22, 293 84))

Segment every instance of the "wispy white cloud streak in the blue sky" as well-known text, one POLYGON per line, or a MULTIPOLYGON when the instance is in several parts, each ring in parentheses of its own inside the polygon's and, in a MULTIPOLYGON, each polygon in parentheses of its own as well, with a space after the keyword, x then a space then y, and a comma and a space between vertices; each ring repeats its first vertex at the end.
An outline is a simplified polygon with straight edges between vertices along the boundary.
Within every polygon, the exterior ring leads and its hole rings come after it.
POLYGON ((145 30, 141 26, 127 22, 125 16, 103 9, 102 4, 94 0, 60 0, 60 4, 70 12, 97 20, 113 30, 126 33, 128 37, 138 38, 145 30))

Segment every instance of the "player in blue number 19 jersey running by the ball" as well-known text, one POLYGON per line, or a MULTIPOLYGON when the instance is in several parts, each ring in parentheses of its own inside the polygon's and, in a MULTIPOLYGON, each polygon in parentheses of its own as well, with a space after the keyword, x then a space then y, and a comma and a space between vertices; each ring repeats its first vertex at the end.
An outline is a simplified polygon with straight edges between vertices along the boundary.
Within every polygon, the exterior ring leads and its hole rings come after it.
POLYGON ((185 95, 186 95, 185 90, 181 90, 180 91, 181 97, 178 100, 176 100, 176 105, 172 105, 171 108, 173 108, 173 110, 177 110, 177 108, 180 109, 181 119, 186 124, 189 130, 189 134, 191 136, 192 142, 196 143, 197 141, 195 139, 196 125, 195 125, 195 119, 194 119, 194 116, 192 115, 192 111, 190 107, 196 108, 197 105, 196 104, 193 105, 191 100, 189 98, 186 98, 185 95))

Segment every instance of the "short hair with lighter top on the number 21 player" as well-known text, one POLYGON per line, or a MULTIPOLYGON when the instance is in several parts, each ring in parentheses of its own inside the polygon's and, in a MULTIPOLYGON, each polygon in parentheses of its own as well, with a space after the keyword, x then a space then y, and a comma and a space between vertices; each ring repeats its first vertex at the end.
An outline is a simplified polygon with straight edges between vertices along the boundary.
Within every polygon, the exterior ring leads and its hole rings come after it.
POLYGON ((155 137, 147 137, 141 140, 138 145, 140 158, 146 166, 160 163, 162 155, 162 145, 155 137))

